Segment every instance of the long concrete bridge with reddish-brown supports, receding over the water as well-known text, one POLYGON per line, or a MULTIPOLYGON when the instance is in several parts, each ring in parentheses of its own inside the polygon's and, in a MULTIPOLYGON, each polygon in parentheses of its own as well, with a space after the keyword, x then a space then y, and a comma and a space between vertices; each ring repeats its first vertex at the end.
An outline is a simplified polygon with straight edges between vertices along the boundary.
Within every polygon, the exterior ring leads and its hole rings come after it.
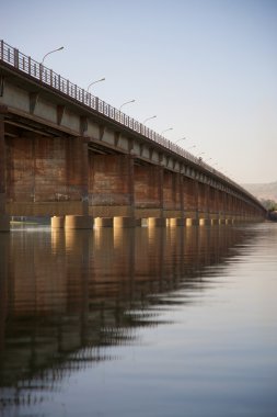
POLYGON ((0 42, 0 229, 10 216, 90 228, 265 214, 201 159, 0 42))

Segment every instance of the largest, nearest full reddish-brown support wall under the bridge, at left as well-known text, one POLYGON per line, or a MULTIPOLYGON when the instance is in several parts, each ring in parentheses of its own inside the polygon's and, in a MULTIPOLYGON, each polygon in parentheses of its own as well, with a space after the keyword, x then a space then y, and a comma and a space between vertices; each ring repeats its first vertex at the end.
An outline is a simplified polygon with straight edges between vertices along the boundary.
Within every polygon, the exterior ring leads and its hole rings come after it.
POLYGON ((7 207, 11 215, 88 213, 88 149, 79 138, 9 138, 7 207))

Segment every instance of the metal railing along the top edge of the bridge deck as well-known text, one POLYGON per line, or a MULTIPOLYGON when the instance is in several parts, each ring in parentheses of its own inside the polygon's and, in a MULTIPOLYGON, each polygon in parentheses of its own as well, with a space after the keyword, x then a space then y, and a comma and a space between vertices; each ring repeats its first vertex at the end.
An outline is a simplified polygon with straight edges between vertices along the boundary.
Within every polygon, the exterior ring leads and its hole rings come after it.
MULTIPOLYGON (((200 158, 197 158, 178 145, 170 142, 140 122, 120 112, 118 109, 113 108, 105 101, 92 95, 89 91, 61 77, 57 72, 53 71, 53 69, 45 67, 42 63, 37 63, 30 56, 22 54, 19 49, 8 45, 3 41, 0 41, 0 60, 28 75, 30 77, 39 80, 42 83, 70 97, 83 105, 105 115, 106 117, 116 121, 117 123, 130 128, 131 131, 141 134, 148 139, 155 142, 157 144, 170 149, 171 151, 184 157, 185 159, 201 166, 206 171, 216 174, 217 177, 223 179, 226 182, 232 184, 236 189, 241 189, 245 194, 247 194, 244 189, 233 182, 230 178, 226 177, 222 172, 216 170, 203 161, 200 158)), ((253 198, 253 195, 251 196, 253 198)))

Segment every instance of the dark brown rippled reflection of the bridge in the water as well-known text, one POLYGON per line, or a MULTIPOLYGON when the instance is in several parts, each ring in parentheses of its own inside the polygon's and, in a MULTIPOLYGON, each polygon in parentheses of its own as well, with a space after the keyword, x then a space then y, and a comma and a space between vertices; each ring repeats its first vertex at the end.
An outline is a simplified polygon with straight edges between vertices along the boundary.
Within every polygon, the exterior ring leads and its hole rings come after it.
POLYGON ((72 372, 115 360, 106 347, 139 343, 138 327, 194 303, 243 240, 230 226, 0 235, 1 406, 43 402, 72 372))

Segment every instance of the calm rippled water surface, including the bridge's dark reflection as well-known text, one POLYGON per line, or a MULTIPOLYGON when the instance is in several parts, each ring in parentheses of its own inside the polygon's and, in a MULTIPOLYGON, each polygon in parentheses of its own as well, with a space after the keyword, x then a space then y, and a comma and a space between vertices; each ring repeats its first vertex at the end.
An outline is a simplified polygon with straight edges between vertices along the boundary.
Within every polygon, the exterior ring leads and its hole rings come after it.
POLYGON ((277 416, 277 224, 0 234, 0 415, 277 416))

